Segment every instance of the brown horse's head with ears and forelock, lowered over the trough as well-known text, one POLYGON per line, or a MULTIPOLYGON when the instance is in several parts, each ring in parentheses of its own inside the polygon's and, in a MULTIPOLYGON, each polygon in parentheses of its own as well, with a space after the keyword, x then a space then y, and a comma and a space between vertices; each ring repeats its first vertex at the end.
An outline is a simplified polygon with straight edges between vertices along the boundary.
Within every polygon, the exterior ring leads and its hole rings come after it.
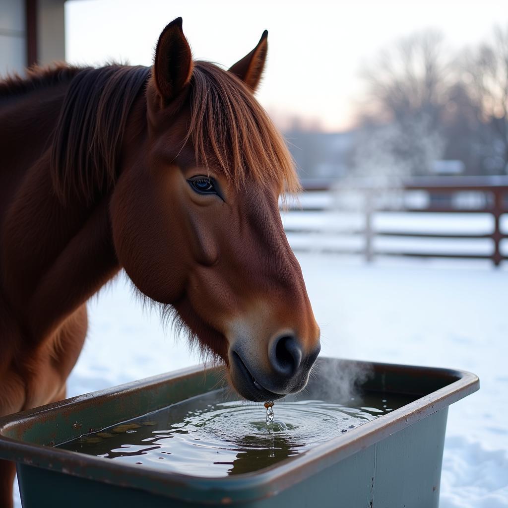
POLYGON ((131 150, 112 200, 115 247, 137 288, 176 309, 238 393, 257 401, 301 390, 320 350, 278 209, 297 178, 253 97, 266 35, 224 71, 193 61, 181 18, 165 28, 144 149, 131 150))

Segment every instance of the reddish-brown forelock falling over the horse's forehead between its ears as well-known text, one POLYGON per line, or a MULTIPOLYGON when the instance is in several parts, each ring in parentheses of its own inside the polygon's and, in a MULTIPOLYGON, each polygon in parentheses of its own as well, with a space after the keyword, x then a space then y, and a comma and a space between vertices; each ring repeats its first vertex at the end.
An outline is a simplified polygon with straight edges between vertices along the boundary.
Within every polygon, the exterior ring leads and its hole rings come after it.
POLYGON ((293 160, 272 121, 247 86, 213 63, 196 61, 190 87, 190 123, 185 141, 197 164, 213 156, 235 186, 250 176, 279 193, 300 189, 293 160))

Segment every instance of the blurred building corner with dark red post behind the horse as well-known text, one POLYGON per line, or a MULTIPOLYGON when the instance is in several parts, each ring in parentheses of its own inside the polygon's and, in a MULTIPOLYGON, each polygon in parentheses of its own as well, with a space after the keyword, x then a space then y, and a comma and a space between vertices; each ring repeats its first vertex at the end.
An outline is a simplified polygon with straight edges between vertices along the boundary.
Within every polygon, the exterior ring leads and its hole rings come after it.
POLYGON ((65 60, 65 0, 0 0, 0 76, 65 60))

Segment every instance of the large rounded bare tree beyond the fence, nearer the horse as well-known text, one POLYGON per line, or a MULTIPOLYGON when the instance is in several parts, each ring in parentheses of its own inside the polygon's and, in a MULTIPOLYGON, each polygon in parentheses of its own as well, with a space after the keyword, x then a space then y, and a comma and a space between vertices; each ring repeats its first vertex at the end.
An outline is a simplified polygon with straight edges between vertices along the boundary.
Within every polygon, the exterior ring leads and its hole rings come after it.
MULTIPOLYGON (((442 35, 426 30, 383 49, 362 72, 367 101, 361 109, 360 128, 383 139, 389 152, 383 159, 402 163, 407 174, 425 174, 441 158, 448 69, 442 35)), ((365 149, 365 145, 358 147, 363 153, 356 157, 357 166, 359 161, 375 159, 365 149)))

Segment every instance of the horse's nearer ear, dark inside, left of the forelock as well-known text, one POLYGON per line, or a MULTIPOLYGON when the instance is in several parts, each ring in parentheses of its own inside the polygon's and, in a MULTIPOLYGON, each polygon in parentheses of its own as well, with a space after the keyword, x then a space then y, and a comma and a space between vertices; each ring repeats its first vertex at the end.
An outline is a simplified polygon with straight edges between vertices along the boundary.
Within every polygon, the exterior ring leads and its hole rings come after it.
POLYGON ((170 102, 185 87, 192 70, 192 54, 183 35, 182 18, 176 18, 159 37, 153 62, 155 86, 165 102, 170 102))

